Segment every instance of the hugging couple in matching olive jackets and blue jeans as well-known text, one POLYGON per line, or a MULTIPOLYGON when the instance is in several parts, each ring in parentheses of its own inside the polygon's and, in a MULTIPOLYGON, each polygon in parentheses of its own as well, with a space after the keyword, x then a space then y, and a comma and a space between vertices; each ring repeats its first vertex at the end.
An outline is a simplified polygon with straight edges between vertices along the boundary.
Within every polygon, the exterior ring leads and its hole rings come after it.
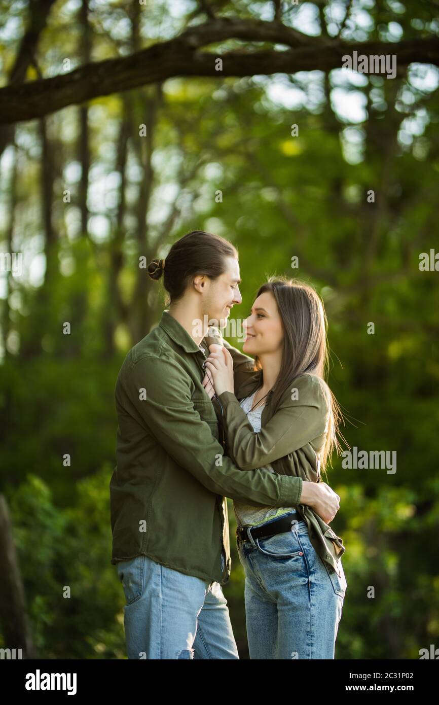
POLYGON ((321 299, 270 278, 245 312, 240 353, 220 333, 242 301, 233 245, 192 231, 148 272, 163 274, 168 309, 120 368, 110 482, 128 658, 239 658, 221 589, 226 497, 250 658, 334 658, 347 582, 328 525, 340 497, 321 481, 340 448, 321 299))

